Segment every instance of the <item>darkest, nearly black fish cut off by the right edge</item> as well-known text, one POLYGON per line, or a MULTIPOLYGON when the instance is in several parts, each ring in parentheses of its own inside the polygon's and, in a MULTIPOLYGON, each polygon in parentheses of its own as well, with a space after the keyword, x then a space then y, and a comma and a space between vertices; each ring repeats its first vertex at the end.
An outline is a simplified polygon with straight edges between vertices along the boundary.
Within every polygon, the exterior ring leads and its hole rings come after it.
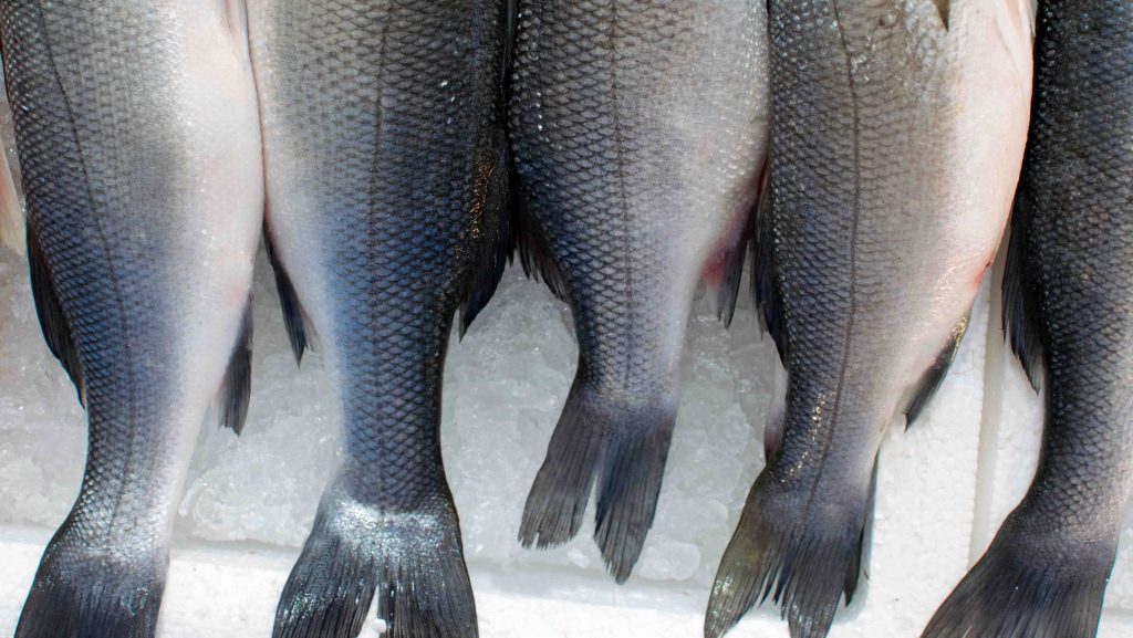
POLYGON ((1046 403, 1030 490, 923 638, 1092 638, 1133 492, 1133 7, 1042 0, 1003 281, 1046 403))

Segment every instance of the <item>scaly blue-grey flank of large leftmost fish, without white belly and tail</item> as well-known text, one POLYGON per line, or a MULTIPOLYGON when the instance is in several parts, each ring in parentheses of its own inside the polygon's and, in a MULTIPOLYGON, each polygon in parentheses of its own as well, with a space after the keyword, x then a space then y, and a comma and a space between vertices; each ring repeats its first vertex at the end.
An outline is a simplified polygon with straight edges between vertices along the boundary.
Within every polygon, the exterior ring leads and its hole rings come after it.
POLYGON ((177 220, 167 203, 184 186, 176 145, 160 142, 170 128, 170 29, 160 3, 25 1, 0 5, 0 28, 11 43, 6 75, 28 221, 86 380, 91 448, 70 534, 87 546, 140 534, 155 548, 163 526, 129 526, 163 519, 157 495, 118 499, 121 486, 163 471, 151 434, 169 417, 174 383, 164 265, 177 220))

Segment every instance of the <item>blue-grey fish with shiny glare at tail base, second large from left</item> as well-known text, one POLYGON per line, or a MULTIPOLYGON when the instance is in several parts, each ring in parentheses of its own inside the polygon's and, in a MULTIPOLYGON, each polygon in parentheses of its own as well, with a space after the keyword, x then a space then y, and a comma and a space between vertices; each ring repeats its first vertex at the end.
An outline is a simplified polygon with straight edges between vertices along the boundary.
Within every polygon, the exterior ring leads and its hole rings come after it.
POLYGON ((477 636, 441 457, 449 335, 506 264, 502 0, 248 2, 266 236, 297 359, 323 352, 341 461, 275 638, 477 636))

